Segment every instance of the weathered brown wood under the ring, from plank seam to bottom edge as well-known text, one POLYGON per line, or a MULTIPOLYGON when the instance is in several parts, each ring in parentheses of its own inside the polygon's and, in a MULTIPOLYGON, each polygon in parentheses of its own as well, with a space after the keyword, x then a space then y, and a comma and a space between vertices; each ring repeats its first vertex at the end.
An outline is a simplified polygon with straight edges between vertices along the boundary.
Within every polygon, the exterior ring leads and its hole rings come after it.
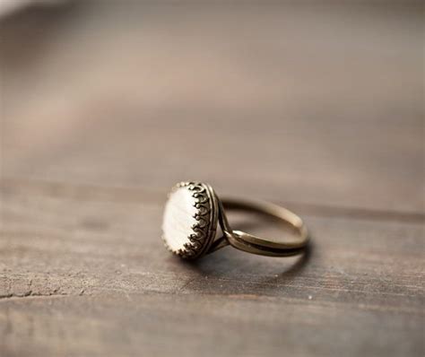
POLYGON ((160 200, 55 187, 3 185, 5 353, 423 353, 423 222, 309 214, 305 259, 185 264, 162 247, 160 200))

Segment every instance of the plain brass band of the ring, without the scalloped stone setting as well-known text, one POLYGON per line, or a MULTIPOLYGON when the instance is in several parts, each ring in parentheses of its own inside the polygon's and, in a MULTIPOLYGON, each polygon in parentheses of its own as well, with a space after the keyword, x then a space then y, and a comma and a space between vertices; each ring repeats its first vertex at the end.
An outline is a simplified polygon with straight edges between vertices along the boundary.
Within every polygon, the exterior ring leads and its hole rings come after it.
POLYGON ((246 201, 224 198, 220 201, 221 226, 225 238, 234 248, 249 253, 272 257, 288 257, 302 253, 308 245, 308 230, 299 216, 280 205, 268 202, 246 201), (291 242, 278 242, 264 239, 243 231, 233 231, 225 215, 225 210, 261 213, 289 224, 297 232, 299 239, 291 242))

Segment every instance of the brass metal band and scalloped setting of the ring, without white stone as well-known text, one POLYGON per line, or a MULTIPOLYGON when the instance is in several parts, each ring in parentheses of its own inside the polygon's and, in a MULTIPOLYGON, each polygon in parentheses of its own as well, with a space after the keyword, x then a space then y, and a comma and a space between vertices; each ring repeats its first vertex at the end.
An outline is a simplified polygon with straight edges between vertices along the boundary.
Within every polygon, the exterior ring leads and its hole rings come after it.
POLYGON ((279 205, 267 202, 235 199, 220 200, 212 187, 202 182, 180 182, 171 189, 169 196, 178 188, 186 187, 195 199, 195 224, 182 248, 172 249, 167 238, 162 236, 169 250, 185 259, 195 259, 230 245, 248 253, 269 257, 289 257, 300 254, 308 245, 308 230, 299 216, 279 205), (291 225, 299 239, 278 242, 273 239, 256 237, 243 231, 231 229, 225 210, 261 213, 291 225), (217 224, 220 223, 222 237, 216 238, 217 224))

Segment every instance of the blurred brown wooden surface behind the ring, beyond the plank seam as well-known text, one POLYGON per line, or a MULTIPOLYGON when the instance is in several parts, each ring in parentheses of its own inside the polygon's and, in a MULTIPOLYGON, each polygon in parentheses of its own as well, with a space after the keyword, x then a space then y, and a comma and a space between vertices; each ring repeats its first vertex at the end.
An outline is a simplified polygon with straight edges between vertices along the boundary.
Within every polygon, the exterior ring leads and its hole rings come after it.
POLYGON ((421 2, 36 3, 1 22, 4 177, 421 210, 421 2))

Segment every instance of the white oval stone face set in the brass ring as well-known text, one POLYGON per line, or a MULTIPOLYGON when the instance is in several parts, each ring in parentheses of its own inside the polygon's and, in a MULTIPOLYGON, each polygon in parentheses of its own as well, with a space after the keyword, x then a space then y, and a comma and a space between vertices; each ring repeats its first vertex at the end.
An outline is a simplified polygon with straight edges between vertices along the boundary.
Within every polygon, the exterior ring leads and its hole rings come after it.
POLYGON ((184 249, 189 243, 188 237, 194 232, 192 226, 196 223, 196 200, 193 192, 187 187, 178 187, 171 192, 165 205, 162 221, 162 233, 167 245, 174 252, 184 249))

